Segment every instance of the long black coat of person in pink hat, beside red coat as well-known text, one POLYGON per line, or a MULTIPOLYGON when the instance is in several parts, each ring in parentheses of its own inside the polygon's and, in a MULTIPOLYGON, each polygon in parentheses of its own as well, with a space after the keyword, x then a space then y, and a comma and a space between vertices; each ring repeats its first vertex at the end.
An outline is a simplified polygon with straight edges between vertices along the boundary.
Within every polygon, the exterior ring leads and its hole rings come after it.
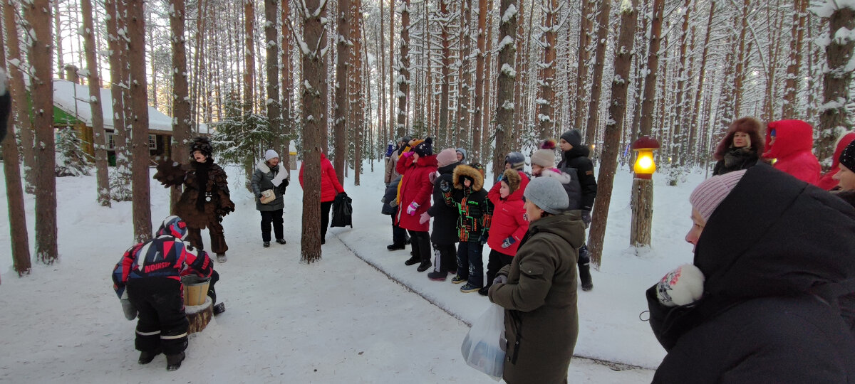
POLYGON ((459 218, 457 208, 445 205, 445 198, 443 197, 443 193, 454 188, 452 175, 454 168, 459 165, 459 162, 455 162, 447 166, 440 166, 438 169, 439 176, 433 180, 433 206, 428 209, 428 214, 433 218, 430 241, 434 244, 448 245, 460 241, 457 236, 457 219, 459 218))

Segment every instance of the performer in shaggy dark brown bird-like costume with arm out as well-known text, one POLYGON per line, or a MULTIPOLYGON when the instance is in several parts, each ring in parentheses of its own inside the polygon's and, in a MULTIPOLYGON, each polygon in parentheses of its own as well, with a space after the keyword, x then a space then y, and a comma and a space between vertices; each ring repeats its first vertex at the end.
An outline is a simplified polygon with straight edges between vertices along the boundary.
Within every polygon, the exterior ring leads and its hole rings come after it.
POLYGON ((196 137, 190 143, 190 164, 163 161, 157 166, 154 178, 165 187, 184 184, 184 192, 175 204, 175 214, 187 224, 186 241, 204 249, 202 230, 208 228, 210 250, 216 253, 218 262, 225 263, 228 245, 221 222, 223 216, 234 212, 234 203, 228 192, 226 171, 214 162, 213 154, 209 138, 196 137))

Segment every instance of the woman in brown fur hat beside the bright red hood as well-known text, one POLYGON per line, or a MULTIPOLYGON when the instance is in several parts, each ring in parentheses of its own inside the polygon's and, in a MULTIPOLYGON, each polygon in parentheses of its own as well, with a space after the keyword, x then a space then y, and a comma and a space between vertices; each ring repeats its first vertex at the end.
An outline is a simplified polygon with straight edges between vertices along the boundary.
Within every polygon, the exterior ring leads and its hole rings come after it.
POLYGON ((728 127, 728 133, 716 147, 713 157, 718 160, 712 174, 722 175, 757 164, 763 154, 760 122, 754 118, 737 119, 728 127))

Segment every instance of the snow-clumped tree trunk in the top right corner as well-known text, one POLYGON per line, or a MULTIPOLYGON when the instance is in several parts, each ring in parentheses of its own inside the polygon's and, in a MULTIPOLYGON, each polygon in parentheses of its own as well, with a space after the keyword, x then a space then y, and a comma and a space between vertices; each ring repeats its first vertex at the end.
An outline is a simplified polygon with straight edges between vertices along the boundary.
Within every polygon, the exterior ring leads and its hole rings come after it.
MULTIPOLYGON (((834 2, 828 2, 831 7, 834 2)), ((825 16, 825 15, 823 15, 825 16)), ((825 58, 828 67, 823 73, 823 105, 819 108, 819 139, 817 140, 817 158, 820 162, 827 161, 834 153, 836 131, 852 127, 852 116, 846 111, 846 105, 852 100, 850 84, 852 84, 852 50, 855 49, 855 9, 852 7, 835 6, 828 19, 828 37, 830 42, 825 46, 825 58), (849 32, 846 38, 845 33, 849 32)))

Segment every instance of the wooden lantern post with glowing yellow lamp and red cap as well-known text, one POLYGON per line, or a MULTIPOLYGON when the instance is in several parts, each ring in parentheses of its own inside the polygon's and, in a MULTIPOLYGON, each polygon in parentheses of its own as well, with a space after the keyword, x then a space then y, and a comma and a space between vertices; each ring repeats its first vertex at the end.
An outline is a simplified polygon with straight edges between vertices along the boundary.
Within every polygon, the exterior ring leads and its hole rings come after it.
POLYGON ((633 166, 633 208, 632 226, 629 230, 629 244, 633 247, 650 247, 650 229, 653 219, 653 150, 659 148, 659 142, 652 137, 640 137, 633 143, 632 149, 638 154, 633 166))

